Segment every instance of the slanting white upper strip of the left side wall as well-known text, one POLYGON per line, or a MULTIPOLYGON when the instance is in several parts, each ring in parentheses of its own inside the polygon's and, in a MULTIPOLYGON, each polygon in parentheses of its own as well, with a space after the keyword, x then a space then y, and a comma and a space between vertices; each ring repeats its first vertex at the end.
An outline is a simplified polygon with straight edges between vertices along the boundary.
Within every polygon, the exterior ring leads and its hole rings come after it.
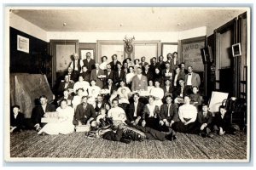
POLYGON ((38 39, 41 39, 45 42, 47 41, 47 32, 44 31, 42 28, 33 25, 31 22, 24 20, 23 18, 14 13, 7 14, 9 14, 9 26, 19 31, 23 31, 26 34, 31 35, 32 37, 37 37, 38 39))

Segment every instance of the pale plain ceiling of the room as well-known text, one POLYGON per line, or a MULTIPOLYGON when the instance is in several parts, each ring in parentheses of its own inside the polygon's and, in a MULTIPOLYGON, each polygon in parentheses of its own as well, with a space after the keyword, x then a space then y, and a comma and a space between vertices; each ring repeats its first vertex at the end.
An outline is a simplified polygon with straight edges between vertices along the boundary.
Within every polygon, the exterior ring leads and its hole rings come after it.
POLYGON ((84 7, 16 8, 12 12, 45 31, 185 31, 215 29, 246 8, 84 7), (63 23, 67 23, 63 26, 63 23))

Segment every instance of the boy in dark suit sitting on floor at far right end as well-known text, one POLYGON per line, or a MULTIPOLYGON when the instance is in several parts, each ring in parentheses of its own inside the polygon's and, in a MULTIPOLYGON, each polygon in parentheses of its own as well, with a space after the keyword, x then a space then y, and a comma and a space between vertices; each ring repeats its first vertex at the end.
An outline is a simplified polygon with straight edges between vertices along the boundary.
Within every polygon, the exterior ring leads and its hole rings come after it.
POLYGON ((219 135, 236 134, 236 128, 231 125, 231 116, 224 105, 219 106, 219 112, 214 117, 213 131, 219 135))

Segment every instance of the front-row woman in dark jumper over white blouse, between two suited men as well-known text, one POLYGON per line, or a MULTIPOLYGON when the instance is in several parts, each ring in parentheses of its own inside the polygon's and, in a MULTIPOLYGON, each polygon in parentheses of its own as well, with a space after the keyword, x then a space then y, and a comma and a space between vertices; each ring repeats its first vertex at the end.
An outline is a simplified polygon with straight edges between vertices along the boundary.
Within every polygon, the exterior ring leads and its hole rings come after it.
POLYGON ((151 127, 156 130, 160 129, 160 108, 154 103, 154 96, 149 96, 148 104, 143 109, 143 127, 151 127))

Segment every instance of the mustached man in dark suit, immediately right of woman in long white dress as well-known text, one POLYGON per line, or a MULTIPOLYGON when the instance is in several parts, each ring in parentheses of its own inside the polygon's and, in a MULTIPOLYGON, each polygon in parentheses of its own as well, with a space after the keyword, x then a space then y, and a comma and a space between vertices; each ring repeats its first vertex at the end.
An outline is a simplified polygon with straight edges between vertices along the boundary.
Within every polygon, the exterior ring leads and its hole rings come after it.
POLYGON ((77 106, 75 111, 73 124, 77 125, 90 125, 91 122, 96 120, 96 112, 93 105, 87 103, 87 97, 82 97, 82 103, 77 106))

